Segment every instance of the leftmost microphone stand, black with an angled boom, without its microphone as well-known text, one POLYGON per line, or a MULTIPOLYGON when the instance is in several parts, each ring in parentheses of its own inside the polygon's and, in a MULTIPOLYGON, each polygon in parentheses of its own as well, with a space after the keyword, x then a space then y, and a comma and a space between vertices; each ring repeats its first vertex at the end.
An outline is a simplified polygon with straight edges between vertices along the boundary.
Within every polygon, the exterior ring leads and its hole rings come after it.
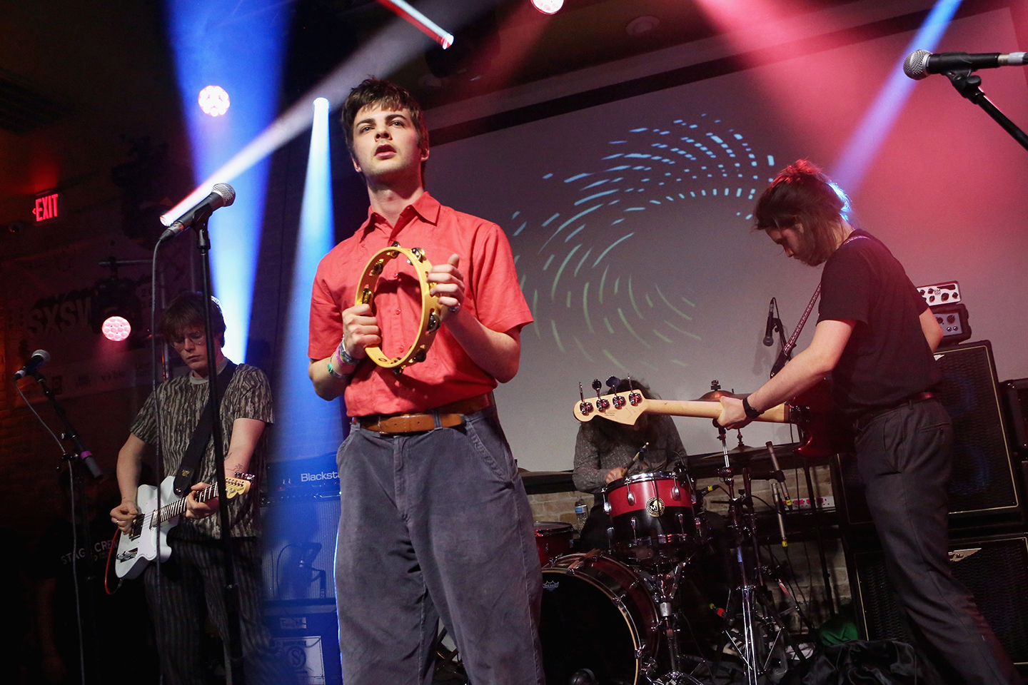
MULTIPOLYGON (((72 550, 72 579, 73 582, 78 587, 78 597, 82 594, 85 595, 85 607, 84 611, 80 611, 84 616, 80 616, 79 620, 79 646, 81 649, 89 655, 89 665, 96 675, 96 680, 89 680, 89 682, 102 683, 104 679, 101 677, 101 663, 99 658, 99 651, 97 645, 97 608, 96 608, 96 598, 93 595, 95 581, 94 573, 95 568, 93 565, 93 540, 89 539, 89 506, 88 502, 85 501, 85 490, 82 487, 83 472, 82 467, 84 466, 89 471, 89 475, 95 481, 99 481, 104 477, 104 471, 100 469, 97 461, 93 458, 93 453, 86 449, 85 445, 82 443, 82 439, 79 436, 78 431, 75 430, 75 426, 72 425, 71 420, 68 418, 68 414, 65 413, 64 407, 58 402, 58 398, 53 394, 53 390, 50 389, 49 384, 47 384, 46 379, 38 371, 30 372, 30 375, 36 379, 36 383, 39 384, 39 388, 43 391, 43 394, 49 401, 50 406, 53 408, 53 413, 58 415, 61 423, 64 425, 64 432, 61 433, 61 437, 70 442, 74 448, 72 452, 65 451, 61 455, 61 458, 68 462, 68 468, 70 469, 69 477, 71 480, 71 525, 75 531, 75 538, 78 540, 78 545, 85 549, 85 556, 81 559, 81 562, 85 565, 85 582, 80 583, 77 573, 77 560, 78 560, 78 549, 72 550), (88 643, 88 648, 86 648, 86 643, 88 643)), ((72 545, 76 546, 76 545, 72 545)), ((81 682, 84 684, 86 679, 87 669, 85 668, 85 659, 83 658, 79 663, 82 671, 81 682)))

